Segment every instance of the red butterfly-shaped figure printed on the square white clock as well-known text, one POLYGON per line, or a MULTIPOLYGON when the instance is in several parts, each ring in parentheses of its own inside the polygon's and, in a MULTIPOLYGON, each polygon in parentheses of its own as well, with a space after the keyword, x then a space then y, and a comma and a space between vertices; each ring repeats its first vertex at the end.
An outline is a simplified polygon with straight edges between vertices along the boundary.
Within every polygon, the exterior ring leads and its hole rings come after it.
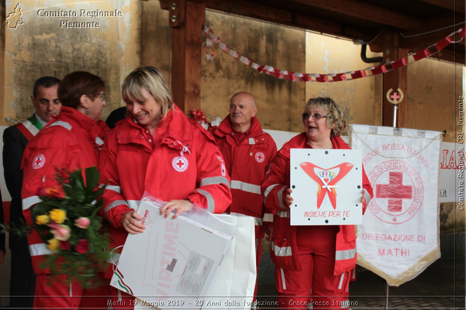
POLYGON ((335 188, 331 188, 330 191, 327 191, 327 189, 325 187, 322 188, 322 185, 324 185, 324 184, 322 184, 321 179, 317 176, 317 174, 315 174, 314 168, 318 168, 318 169, 323 170, 323 171, 328 171, 328 170, 332 170, 332 169, 335 169, 335 168, 339 168, 340 172, 338 172, 338 175, 336 175, 335 178, 333 178, 331 181, 327 182, 327 185, 336 185, 336 183, 338 183, 345 175, 348 174, 348 172, 351 170, 351 168, 353 168, 353 164, 342 163, 340 165, 337 165, 337 166, 329 168, 329 169, 323 169, 323 168, 321 168, 319 166, 316 166, 316 165, 308 163, 308 162, 301 163, 299 165, 301 166, 302 170, 304 170, 304 172, 306 172, 306 174, 310 178, 312 178, 315 181, 315 183, 317 183, 319 185, 319 189, 317 190, 317 209, 320 208, 320 206, 322 204, 322 201, 323 201, 323 198, 325 197, 325 193, 327 193, 329 195, 329 199, 330 199, 330 202, 332 203, 333 209, 335 210, 336 209, 336 191, 335 191, 335 188))

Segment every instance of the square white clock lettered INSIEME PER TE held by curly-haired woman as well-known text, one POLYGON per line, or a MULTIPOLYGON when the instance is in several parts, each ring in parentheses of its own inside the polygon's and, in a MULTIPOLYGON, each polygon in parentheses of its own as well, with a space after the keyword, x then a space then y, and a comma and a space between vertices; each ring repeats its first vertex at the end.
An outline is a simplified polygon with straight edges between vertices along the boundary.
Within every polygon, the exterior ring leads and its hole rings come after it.
POLYGON ((291 149, 291 225, 362 224, 361 151, 291 149))

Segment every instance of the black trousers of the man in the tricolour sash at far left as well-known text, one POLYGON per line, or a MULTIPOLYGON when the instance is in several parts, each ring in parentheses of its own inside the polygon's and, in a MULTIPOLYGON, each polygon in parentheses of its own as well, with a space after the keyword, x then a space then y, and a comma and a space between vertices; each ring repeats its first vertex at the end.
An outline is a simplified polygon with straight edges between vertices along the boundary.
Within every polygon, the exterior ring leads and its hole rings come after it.
POLYGON ((29 251, 11 250, 10 308, 32 309, 35 274, 29 251))

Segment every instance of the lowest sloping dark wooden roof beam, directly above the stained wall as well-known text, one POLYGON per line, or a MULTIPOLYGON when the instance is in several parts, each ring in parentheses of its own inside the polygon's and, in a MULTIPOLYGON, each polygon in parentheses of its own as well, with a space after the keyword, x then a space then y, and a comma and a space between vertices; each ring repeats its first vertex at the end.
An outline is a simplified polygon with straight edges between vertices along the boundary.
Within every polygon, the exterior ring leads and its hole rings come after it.
POLYGON ((370 40, 374 35, 372 32, 358 27, 344 26, 332 20, 301 13, 293 13, 244 0, 206 0, 206 7, 212 10, 247 16, 258 20, 266 20, 349 39, 370 40))

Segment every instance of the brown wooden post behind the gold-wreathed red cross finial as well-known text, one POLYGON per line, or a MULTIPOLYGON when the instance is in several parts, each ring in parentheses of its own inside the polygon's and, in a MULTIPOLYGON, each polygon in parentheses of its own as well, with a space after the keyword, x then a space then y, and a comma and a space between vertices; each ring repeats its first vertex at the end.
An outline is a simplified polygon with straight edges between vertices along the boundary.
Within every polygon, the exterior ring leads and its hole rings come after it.
MULTIPOLYGON (((398 47, 399 35, 393 31, 387 31, 382 34, 383 38, 383 53, 384 53, 384 63, 390 60, 397 60, 402 57, 408 56, 408 50, 398 47)), ((404 100, 398 105, 397 111, 397 127, 407 127, 407 108, 408 108, 408 98, 406 94, 406 85, 407 85, 407 67, 402 66, 393 71, 384 73, 384 92, 383 96, 383 116, 382 116, 382 125, 384 126, 393 126, 393 104, 390 103, 386 94, 390 89, 397 91, 399 88, 404 93, 404 100)))

